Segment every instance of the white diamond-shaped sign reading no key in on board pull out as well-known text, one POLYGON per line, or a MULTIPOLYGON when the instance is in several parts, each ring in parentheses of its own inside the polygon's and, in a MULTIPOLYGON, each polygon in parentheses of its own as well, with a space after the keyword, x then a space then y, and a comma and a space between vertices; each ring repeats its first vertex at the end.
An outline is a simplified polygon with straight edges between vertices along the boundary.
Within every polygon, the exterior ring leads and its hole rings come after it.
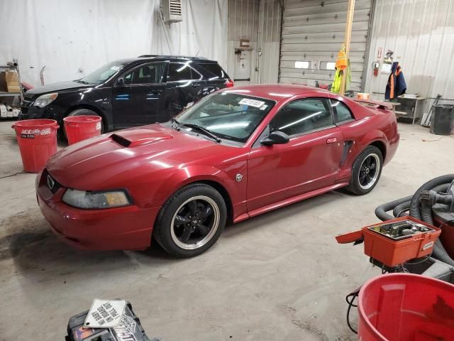
POLYGON ((116 327, 125 311, 126 301, 124 300, 100 300, 95 298, 84 328, 111 328, 116 327))

